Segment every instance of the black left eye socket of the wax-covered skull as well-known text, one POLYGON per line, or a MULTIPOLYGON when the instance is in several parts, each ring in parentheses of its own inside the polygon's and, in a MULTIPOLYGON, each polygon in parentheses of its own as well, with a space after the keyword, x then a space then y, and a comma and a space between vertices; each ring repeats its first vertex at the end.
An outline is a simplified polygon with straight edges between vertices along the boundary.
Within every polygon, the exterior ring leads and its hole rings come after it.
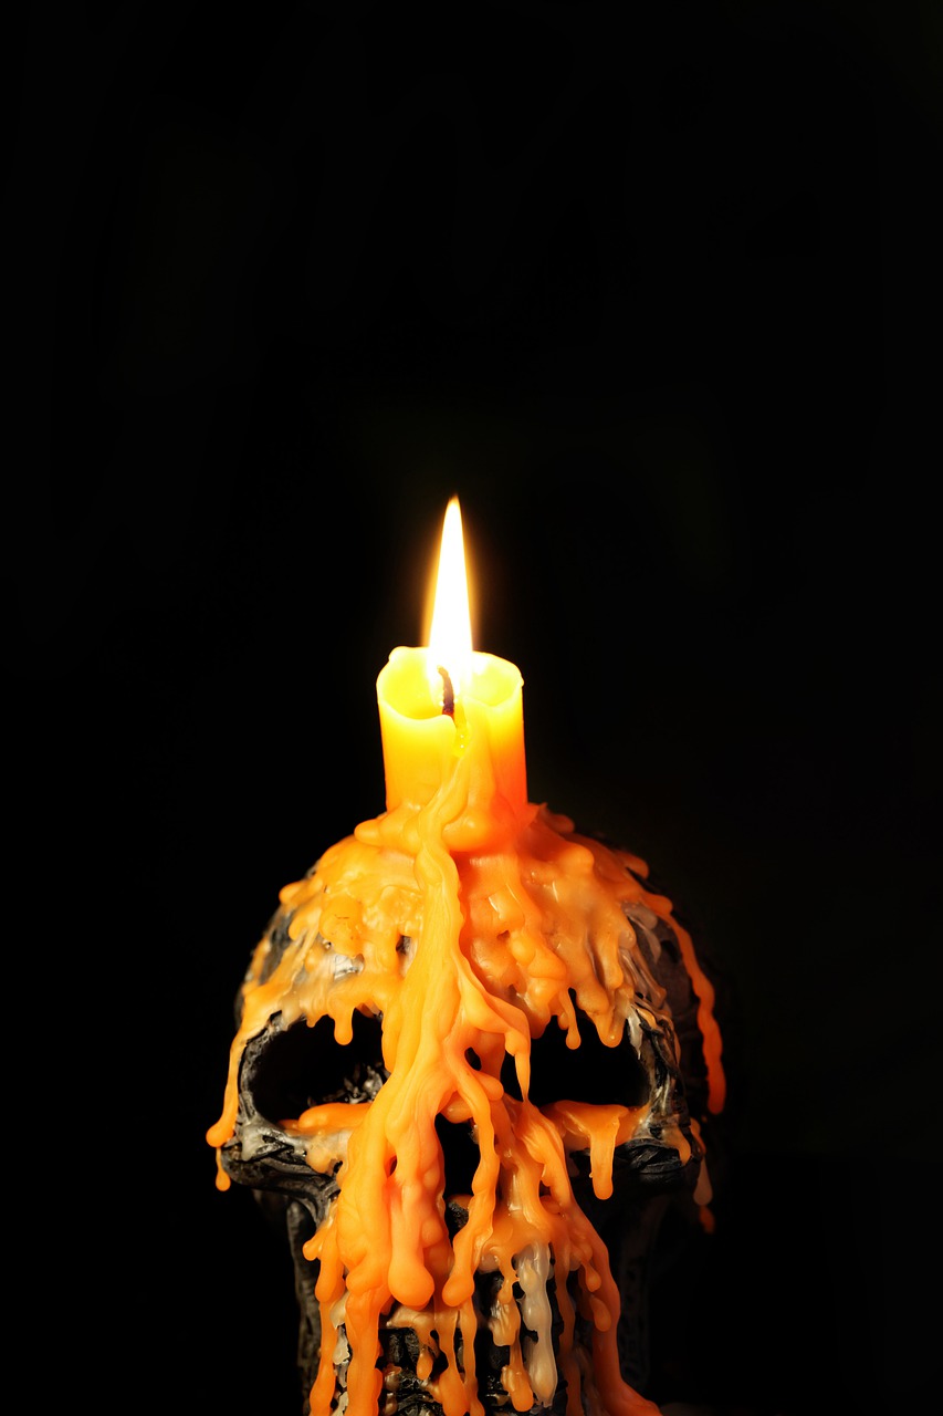
POLYGON ((387 1079, 382 1021, 354 1012, 354 1035, 338 1046, 331 1018, 303 1020, 269 1039, 252 1078, 252 1099, 266 1120, 293 1120, 323 1102, 371 1100, 387 1079))

